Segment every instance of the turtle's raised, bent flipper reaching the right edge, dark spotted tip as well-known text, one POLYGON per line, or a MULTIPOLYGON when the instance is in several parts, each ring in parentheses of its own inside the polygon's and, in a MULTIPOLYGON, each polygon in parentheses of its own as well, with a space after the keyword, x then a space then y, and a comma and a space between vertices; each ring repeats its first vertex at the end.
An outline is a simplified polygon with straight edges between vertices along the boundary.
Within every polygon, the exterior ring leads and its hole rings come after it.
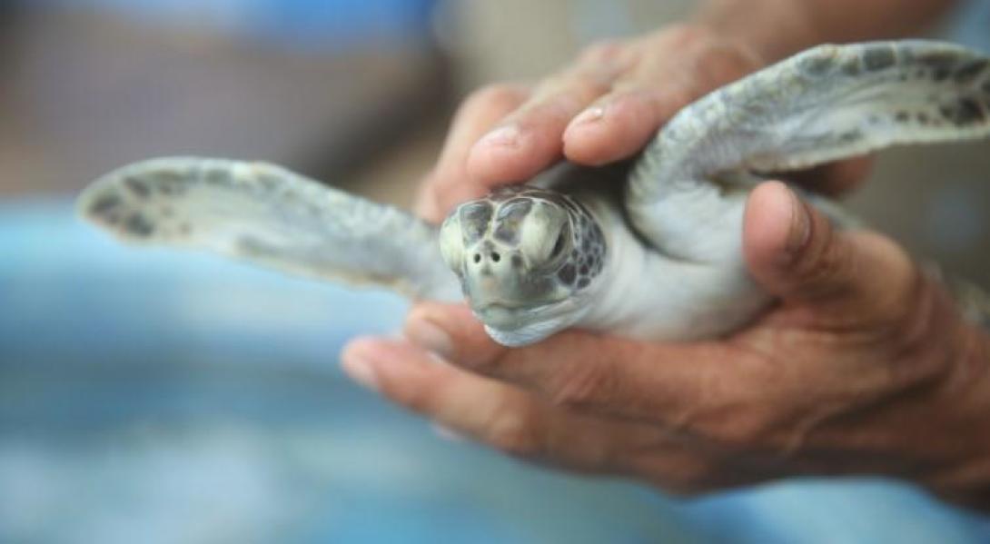
POLYGON ((627 206, 661 250, 718 260, 738 245, 742 217, 739 191, 713 182, 727 173, 988 135, 987 56, 920 40, 821 45, 679 112, 637 164, 627 206))

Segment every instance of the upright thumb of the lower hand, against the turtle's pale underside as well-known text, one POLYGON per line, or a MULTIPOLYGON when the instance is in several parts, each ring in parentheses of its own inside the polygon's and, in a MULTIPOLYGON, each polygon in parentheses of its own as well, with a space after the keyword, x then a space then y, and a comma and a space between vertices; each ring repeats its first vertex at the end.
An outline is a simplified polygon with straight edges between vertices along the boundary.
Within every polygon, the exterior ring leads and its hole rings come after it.
POLYGON ((845 317, 890 311, 919 277, 890 239, 837 230, 786 185, 773 181, 749 195, 743 252, 756 282, 785 303, 826 305, 845 317))

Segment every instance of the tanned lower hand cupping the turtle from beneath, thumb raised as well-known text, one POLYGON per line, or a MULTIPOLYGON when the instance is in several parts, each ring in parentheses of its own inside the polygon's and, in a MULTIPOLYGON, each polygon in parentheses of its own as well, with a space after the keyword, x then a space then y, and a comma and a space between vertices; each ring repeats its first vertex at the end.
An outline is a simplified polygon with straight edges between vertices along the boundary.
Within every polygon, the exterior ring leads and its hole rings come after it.
POLYGON ((780 302, 725 339, 570 330, 507 349, 465 308, 421 304, 409 340, 355 341, 345 369, 510 454, 669 491, 877 474, 990 507, 990 342, 940 285, 779 183, 750 196, 743 245, 780 302))

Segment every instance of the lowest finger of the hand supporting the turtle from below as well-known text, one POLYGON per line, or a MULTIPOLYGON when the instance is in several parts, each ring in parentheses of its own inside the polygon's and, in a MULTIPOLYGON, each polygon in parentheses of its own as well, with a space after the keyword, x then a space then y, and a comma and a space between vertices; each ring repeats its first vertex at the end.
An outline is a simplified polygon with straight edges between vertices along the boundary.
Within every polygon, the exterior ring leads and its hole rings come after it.
POLYGON ((751 483, 722 454, 649 424, 569 413, 532 395, 431 360, 407 343, 362 339, 347 346, 347 374, 397 404, 531 461, 582 472, 632 475, 675 493, 751 483))

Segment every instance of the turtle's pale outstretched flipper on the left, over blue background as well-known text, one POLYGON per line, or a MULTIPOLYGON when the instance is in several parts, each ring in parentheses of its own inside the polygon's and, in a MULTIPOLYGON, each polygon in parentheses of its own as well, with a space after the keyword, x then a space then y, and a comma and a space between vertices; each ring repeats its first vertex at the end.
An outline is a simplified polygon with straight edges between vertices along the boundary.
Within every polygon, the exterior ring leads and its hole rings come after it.
POLYGON ((103 176, 77 206, 127 242, 205 249, 417 299, 462 298, 437 227, 272 164, 151 159, 103 176))

